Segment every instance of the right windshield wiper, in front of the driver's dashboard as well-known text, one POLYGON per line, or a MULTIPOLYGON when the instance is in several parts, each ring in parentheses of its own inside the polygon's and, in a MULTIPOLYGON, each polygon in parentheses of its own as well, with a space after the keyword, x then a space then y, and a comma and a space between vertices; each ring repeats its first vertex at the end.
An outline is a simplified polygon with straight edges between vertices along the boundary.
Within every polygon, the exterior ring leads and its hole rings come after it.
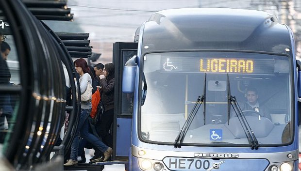
POLYGON ((231 105, 234 109, 236 116, 238 117, 238 120, 239 120, 242 128, 244 129, 244 132, 248 138, 249 144, 251 144, 251 149, 257 150, 258 149, 258 140, 255 137, 255 134, 254 134, 253 130, 251 129, 251 126, 248 123, 244 113, 242 112, 241 108, 239 107, 235 96, 231 95, 229 74, 227 74, 227 87, 228 87, 228 125, 229 125, 229 121, 230 121, 230 105, 231 105))

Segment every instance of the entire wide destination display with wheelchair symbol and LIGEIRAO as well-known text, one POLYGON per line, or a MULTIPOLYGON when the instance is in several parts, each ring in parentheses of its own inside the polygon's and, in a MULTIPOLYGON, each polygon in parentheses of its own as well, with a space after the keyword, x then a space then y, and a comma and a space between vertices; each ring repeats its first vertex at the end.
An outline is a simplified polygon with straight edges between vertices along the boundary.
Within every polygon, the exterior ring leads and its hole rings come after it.
POLYGON ((274 59, 161 57, 161 71, 274 74, 274 59))

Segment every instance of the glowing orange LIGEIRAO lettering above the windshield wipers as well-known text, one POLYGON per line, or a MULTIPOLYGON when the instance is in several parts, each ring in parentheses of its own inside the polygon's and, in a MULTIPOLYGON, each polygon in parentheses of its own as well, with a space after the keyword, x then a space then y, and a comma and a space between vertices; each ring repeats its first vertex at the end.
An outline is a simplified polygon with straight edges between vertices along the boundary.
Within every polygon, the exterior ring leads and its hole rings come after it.
POLYGON ((201 59, 200 71, 221 73, 252 73, 253 61, 241 59, 201 59))

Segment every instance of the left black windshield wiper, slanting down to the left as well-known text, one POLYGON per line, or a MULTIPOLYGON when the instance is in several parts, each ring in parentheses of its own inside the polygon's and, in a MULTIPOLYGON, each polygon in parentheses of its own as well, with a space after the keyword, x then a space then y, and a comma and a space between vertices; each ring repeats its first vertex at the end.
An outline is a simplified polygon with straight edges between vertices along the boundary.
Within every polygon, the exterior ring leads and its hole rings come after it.
MULTIPOLYGON (((201 107, 201 104, 204 103, 203 105, 203 115, 204 115, 204 121, 205 121, 205 99, 206 99, 206 73, 205 73, 205 80, 204 80, 204 92, 202 96, 199 96, 195 105, 193 106, 191 112, 189 113, 189 116, 187 118, 187 120, 185 121, 182 129, 180 130, 175 142, 174 142, 174 147, 175 148, 181 148, 181 144, 184 140, 184 137, 187 133, 187 130, 189 128, 189 126, 191 125, 194 117, 196 116, 198 110, 201 107)), ((205 124, 205 123, 204 123, 205 124)))

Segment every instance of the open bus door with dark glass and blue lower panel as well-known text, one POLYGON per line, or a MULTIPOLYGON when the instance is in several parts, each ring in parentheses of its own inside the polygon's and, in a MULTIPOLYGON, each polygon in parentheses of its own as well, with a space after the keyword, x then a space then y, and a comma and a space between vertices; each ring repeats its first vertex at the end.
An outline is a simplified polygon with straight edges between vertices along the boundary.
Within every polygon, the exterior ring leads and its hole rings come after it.
POLYGON ((122 72, 125 62, 137 55, 137 47, 138 44, 134 42, 113 44, 113 63, 115 65, 113 160, 116 160, 117 157, 127 157, 131 147, 133 94, 122 93, 122 72))

